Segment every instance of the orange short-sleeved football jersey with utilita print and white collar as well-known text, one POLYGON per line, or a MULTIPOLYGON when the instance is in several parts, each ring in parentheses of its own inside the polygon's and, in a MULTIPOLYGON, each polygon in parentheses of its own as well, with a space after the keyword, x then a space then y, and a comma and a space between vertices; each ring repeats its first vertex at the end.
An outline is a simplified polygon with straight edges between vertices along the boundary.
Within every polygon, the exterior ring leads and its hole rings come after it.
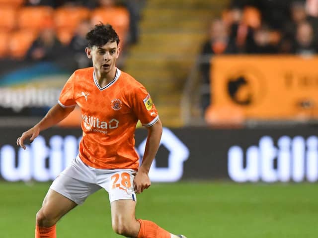
POLYGON ((158 112, 145 87, 116 68, 115 78, 101 88, 93 67, 76 70, 65 84, 59 104, 78 105, 83 137, 79 158, 97 169, 138 170, 134 133, 138 119, 152 126, 158 112))

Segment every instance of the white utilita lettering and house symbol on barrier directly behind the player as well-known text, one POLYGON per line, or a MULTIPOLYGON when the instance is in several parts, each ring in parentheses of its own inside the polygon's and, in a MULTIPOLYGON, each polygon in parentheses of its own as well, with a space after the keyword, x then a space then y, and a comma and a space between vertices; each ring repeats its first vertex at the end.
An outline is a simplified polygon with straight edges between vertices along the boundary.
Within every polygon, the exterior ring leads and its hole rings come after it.
MULTIPOLYGON (((95 121, 96 123, 96 121, 95 121)), ((17 148, 16 144, 0 146, 0 178, 7 181, 48 181, 55 179, 79 153, 79 141, 73 135, 65 137, 39 135, 27 149, 17 148)), ((14 142, 14 141, 13 141, 14 142)), ((147 138, 136 151, 143 156, 147 138)), ((189 149, 167 128, 162 129, 160 144, 168 151, 167 167, 157 167, 154 160, 149 177, 156 182, 175 182, 182 178, 183 163, 189 157, 189 149)))

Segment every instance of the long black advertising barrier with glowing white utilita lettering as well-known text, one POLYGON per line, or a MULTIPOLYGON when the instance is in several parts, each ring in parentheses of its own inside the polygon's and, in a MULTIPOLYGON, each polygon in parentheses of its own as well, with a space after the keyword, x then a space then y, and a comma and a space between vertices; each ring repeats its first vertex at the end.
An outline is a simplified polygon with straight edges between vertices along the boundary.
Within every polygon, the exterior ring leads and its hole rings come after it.
MULTIPOLYGON (((16 146, 25 128, 1 128, 0 177, 47 181, 77 155, 80 129, 43 131, 27 150, 16 146)), ((318 181, 318 128, 163 129, 150 177, 153 181, 231 179, 237 182, 318 181)), ((147 130, 137 129, 141 155, 147 130)))

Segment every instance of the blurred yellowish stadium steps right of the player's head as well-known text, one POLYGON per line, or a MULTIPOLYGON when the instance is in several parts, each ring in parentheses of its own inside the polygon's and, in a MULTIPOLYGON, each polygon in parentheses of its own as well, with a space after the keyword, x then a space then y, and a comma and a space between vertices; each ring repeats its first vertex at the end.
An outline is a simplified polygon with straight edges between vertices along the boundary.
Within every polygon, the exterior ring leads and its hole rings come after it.
POLYGON ((164 126, 182 126, 184 83, 206 38, 208 23, 228 0, 148 0, 139 42, 128 50, 124 70, 151 93, 164 126))

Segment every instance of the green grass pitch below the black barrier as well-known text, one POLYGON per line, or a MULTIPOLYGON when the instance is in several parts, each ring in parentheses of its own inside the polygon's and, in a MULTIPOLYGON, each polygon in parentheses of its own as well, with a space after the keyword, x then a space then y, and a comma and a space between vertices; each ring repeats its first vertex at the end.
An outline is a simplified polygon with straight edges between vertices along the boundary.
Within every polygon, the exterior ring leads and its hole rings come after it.
MULTIPOLYGON (((0 182, 0 238, 33 238, 49 183, 0 182)), ((188 238, 317 238, 317 184, 157 183, 138 195, 137 217, 188 238)), ((98 191, 58 223, 58 238, 119 238, 98 191)))

